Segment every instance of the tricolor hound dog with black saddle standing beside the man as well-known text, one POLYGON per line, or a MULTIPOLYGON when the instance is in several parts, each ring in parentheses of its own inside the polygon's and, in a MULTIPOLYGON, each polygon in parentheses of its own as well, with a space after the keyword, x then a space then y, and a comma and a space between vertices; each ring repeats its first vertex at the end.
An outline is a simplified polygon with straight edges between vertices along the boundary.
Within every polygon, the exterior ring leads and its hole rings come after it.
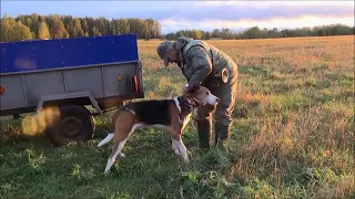
POLYGON ((113 115, 110 133, 99 143, 99 147, 113 138, 112 153, 104 172, 108 172, 118 156, 124 157, 122 148, 130 135, 140 127, 152 126, 170 133, 172 149, 189 161, 187 149, 182 142, 182 133, 190 121, 191 114, 200 105, 216 105, 220 98, 204 87, 199 86, 192 92, 173 100, 141 101, 121 106, 113 115))

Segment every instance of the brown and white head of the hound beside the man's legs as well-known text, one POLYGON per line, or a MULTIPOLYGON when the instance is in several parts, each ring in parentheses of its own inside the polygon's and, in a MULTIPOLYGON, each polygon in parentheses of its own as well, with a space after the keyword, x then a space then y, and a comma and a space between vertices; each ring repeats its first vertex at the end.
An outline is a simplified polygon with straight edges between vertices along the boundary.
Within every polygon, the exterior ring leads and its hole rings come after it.
POLYGON ((220 102, 219 97, 213 95, 210 90, 201 85, 190 91, 186 96, 190 101, 193 101, 192 103, 194 103, 195 106, 205 104, 214 106, 220 102))

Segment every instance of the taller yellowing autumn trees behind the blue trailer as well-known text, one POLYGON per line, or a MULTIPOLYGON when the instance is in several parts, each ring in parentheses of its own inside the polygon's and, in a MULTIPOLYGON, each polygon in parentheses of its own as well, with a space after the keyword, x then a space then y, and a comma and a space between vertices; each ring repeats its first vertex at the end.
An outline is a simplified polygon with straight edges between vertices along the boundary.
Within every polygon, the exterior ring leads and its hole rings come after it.
POLYGON ((139 39, 159 39, 161 24, 153 19, 122 18, 73 18, 72 15, 38 13, 20 14, 0 19, 1 42, 21 40, 67 39, 95 35, 135 33, 139 39))

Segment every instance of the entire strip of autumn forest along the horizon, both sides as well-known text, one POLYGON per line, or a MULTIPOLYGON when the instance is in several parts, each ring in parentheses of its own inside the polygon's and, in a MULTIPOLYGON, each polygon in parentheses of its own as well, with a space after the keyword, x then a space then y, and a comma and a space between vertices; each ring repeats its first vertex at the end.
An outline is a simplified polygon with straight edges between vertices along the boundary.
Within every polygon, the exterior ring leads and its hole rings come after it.
POLYGON ((139 39, 168 39, 175 40, 184 35, 193 39, 210 40, 219 38, 223 40, 240 39, 268 39, 268 38, 296 38, 296 36, 327 36, 355 34, 354 27, 332 24, 313 28, 298 28, 293 30, 272 30, 252 27, 241 32, 230 29, 214 29, 213 31, 181 30, 162 34, 161 24, 154 19, 122 18, 73 18, 72 15, 32 13, 11 18, 4 14, 0 18, 1 42, 21 40, 67 39, 95 35, 114 35, 135 33, 139 39))

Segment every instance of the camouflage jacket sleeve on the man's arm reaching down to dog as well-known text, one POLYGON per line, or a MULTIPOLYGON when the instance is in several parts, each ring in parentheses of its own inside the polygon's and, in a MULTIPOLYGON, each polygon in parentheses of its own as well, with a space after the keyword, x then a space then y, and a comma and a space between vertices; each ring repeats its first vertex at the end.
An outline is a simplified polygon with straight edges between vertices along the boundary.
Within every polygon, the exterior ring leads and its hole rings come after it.
POLYGON ((212 63, 206 51, 201 46, 193 46, 187 54, 187 59, 191 61, 190 67, 193 73, 187 82, 189 88, 191 90, 199 86, 211 73, 212 63))

